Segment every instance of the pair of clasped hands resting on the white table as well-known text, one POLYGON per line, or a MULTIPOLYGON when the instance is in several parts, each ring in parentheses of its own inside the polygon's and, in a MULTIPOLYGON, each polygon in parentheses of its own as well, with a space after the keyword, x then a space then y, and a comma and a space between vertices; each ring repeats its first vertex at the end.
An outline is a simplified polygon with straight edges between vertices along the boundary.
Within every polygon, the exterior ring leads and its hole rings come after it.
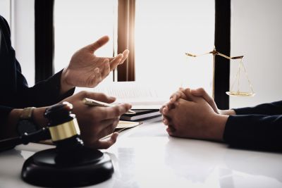
POLYGON ((223 140, 228 119, 204 89, 178 89, 160 109, 166 131, 173 137, 223 140))

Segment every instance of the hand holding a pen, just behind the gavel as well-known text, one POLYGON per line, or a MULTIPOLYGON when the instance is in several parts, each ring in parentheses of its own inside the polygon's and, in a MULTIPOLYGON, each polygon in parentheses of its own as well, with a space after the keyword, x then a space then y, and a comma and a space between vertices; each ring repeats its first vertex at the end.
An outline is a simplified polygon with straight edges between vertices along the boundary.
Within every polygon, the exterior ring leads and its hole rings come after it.
POLYGON ((112 103, 116 99, 102 93, 79 92, 63 100, 73 104, 73 113, 78 119, 80 135, 85 146, 95 149, 107 149, 116 142, 118 133, 112 134, 107 140, 100 139, 114 132, 119 117, 127 112, 131 105, 119 104, 113 107, 87 106, 82 101, 84 98, 105 103, 112 103))

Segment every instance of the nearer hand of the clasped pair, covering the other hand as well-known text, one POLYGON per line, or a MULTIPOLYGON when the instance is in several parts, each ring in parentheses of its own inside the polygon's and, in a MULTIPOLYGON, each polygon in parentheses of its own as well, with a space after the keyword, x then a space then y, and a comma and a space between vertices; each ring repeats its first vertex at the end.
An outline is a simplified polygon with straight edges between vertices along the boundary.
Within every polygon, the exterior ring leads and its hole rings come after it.
POLYGON ((202 97, 192 96, 192 101, 178 99, 174 108, 163 108, 166 131, 175 137, 196 139, 223 139, 227 115, 216 114, 202 97))

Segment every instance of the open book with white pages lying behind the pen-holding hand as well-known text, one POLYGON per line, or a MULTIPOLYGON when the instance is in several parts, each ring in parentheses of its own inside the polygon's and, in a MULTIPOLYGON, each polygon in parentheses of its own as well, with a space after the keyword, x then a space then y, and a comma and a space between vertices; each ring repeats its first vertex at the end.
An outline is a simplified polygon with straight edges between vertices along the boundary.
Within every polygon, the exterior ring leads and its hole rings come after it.
MULTIPOLYGON (((162 84, 164 85, 164 84, 162 84)), ((109 96, 115 96, 115 104, 129 103, 134 109, 159 109, 169 100, 169 96, 176 88, 168 89, 161 84, 139 83, 139 82, 102 82, 97 87, 78 87, 75 92, 87 90, 91 92, 102 92, 109 96)))

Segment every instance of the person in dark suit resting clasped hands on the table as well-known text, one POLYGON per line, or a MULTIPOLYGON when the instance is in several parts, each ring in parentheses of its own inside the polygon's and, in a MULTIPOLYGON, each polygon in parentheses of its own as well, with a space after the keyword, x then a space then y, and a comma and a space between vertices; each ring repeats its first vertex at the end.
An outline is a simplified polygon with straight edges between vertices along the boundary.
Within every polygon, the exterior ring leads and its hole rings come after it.
POLYGON ((204 89, 180 88, 160 111, 166 131, 173 137, 282 150, 282 101, 221 111, 204 89))

